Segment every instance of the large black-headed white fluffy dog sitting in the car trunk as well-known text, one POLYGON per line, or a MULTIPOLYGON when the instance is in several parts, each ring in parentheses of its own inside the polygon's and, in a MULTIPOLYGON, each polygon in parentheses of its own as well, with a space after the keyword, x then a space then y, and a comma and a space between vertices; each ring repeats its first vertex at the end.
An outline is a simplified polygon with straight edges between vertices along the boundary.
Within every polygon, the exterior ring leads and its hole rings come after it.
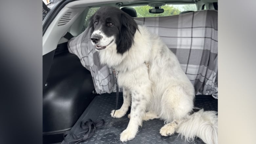
POLYGON ((129 124, 120 134, 122 142, 133 139, 142 121, 160 118, 162 136, 175 132, 193 141, 197 136, 217 144, 218 117, 214 111, 194 108, 195 90, 175 54, 159 36, 116 7, 101 7, 90 18, 91 42, 100 63, 118 71, 123 104, 111 115, 124 116, 131 106, 129 124))

